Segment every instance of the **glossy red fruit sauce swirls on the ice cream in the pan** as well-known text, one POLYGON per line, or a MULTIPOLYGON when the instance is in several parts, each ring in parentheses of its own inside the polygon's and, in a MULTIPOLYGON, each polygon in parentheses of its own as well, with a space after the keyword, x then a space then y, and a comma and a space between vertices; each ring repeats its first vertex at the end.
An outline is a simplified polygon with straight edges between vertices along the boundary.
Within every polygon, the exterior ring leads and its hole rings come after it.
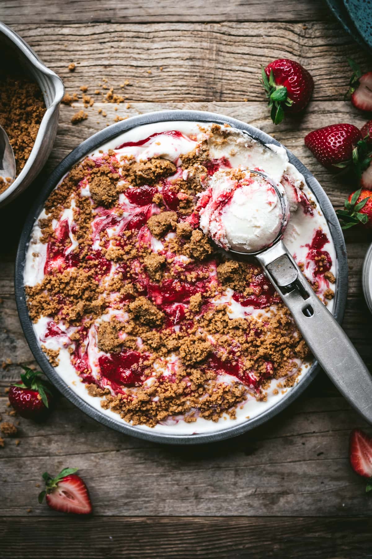
MULTIPOLYGON (((177 130, 156 132, 142 140, 125 142, 117 149, 129 146, 142 146, 156 136, 163 134, 173 136, 173 138, 180 138, 183 136, 181 132, 177 130)), ((96 166, 103 165, 104 163, 107 163, 107 160, 103 157, 92 160, 92 164, 96 166)), ((205 162, 204 165, 207 168, 209 176, 217 172, 220 168, 231 167, 229 160, 225 157, 212 159, 205 162)), ((80 183, 83 184, 84 181, 80 181, 80 183)), ((88 177, 86 177, 86 182, 88 181, 89 174, 88 177)), ((79 188, 80 186, 77 187, 77 194, 79 193, 79 188)), ((96 217, 92 224, 91 247, 88 249, 88 254, 85 253, 84 255, 86 269, 94 270, 95 281, 102 281, 102 278, 112 271, 113 264, 104 257, 104 250, 93 248, 94 240, 99 239, 100 235, 105 233, 108 229, 117 227, 119 231, 118 235, 121 239, 117 241, 117 244, 120 244, 121 248, 125 248, 127 239, 127 236, 123 234, 124 231, 131 231, 131 239, 133 240, 133 238, 135 238, 139 246, 141 246, 142 242, 146 244, 148 238, 151 241, 151 236, 149 237, 149 230, 146 224, 149 217, 154 212, 157 212, 156 205, 153 203, 153 197, 158 191, 158 187, 148 184, 144 184, 140 187, 129 187, 125 190, 125 197, 129 202, 130 211, 128 211, 128 202, 126 202, 127 206, 123 208, 124 212, 122 212, 122 215, 118 215, 117 212, 115 212, 115 208, 105 209, 99 207, 95 210, 96 217)), ((172 185, 172 179, 168 178, 161 181, 160 192, 165 209, 167 211, 178 212, 180 199, 177 195, 177 189, 172 185)), ((204 197, 205 196, 207 196, 207 192, 204 194, 204 197)), ((202 204, 203 200, 204 198, 201 196, 199 203, 202 204)), ((205 200, 205 202, 207 202, 207 200, 205 200)), ((226 203, 228 203, 227 199, 226 203)), ((305 196, 301 196, 299 203, 302 204, 306 214, 312 214, 312 208, 305 196)), ((192 228, 196 228, 199 225, 199 218, 195 212, 188 217, 179 213, 178 218, 180 221, 186 220, 189 222, 192 228)), ((67 219, 59 222, 54 235, 52 235, 47 245, 45 274, 52 274, 56 269, 60 270, 62 266, 64 268, 78 266, 81 257, 80 249, 78 248, 78 250, 69 252, 69 247, 71 247, 71 233, 74 233, 75 229, 76 224, 69 224, 67 219)), ((306 245, 308 248, 307 259, 315 264, 316 276, 331 268, 331 257, 328 252, 323 250, 327 242, 326 234, 318 230, 311 244, 306 245)), ((105 248, 108 248, 108 242, 105 248)), ((161 252, 159 254, 161 254, 161 252)), ((163 254, 166 254, 167 259, 176 257, 175 254, 166 253, 165 251, 163 251, 163 254)), ((175 328, 178 328, 180 331, 188 331, 192 327, 193 321, 190 320, 189 315, 186 313, 191 296, 202 293, 203 306, 200 309, 200 314, 203 314, 211 307, 215 306, 215 303, 211 301, 211 297, 208 297, 206 293, 209 292, 213 283, 218 282, 216 276, 216 267, 218 263, 219 260, 216 260, 216 255, 212 255, 202 263, 194 261, 184 266, 180 264, 183 266, 185 274, 188 274, 188 277, 192 277, 190 280, 183 279, 182 281, 177 278, 165 277, 160 282, 154 282, 149 278, 146 271, 140 273, 136 271, 134 266, 134 269, 131 269, 125 262, 119 263, 114 270, 114 274, 120 274, 120 278, 123 281, 131 279, 133 282, 136 282, 138 292, 141 295, 147 296, 158 309, 162 310, 165 314, 165 320, 162 327, 158 330, 168 335, 172 333, 172 331, 175 331, 175 328)), ((252 267, 257 269, 257 264, 252 264, 252 267)), ((247 286, 250 287, 251 291, 249 295, 234 291, 234 301, 239 302, 245 309, 248 309, 248 307, 250 309, 264 309, 280 301, 278 293, 274 290, 271 283, 267 281, 263 273, 258 273, 252 277, 253 279, 250 285, 247 286)), ((131 301, 131 295, 123 296, 121 304, 126 305, 128 301, 131 301)), ((62 303, 63 296, 61 295, 61 305, 62 303)), ((123 387, 138 387, 143 385, 146 378, 148 378, 146 376, 146 368, 143 366, 143 362, 146 361, 148 357, 146 357, 146 354, 141 354, 134 350, 122 350, 117 353, 109 354, 100 353, 97 359, 100 376, 97 379, 93 376, 89 364, 87 349, 89 344, 88 329, 81 326, 79 332, 80 340, 75 342, 71 362, 84 382, 96 383, 102 387, 108 384, 115 393, 120 392, 122 394, 125 394, 123 387)), ((45 338, 58 337, 61 335, 66 334, 61 331, 54 321, 50 321, 47 325, 45 338)), ((262 334, 257 330, 255 335, 260 337, 262 334)), ((271 377, 273 374, 272 362, 265 362, 266 372, 263 375, 261 374, 258 380, 254 371, 244 370, 243 364, 236 354, 239 355, 239 352, 236 352, 236 349, 231 347, 228 354, 226 354, 226 358, 223 360, 213 352, 200 366, 211 369, 221 376, 233 376, 247 386, 248 389, 258 392, 262 381, 265 378, 271 377)), ((171 381, 171 379, 172 376, 167 377, 168 381, 171 381)))

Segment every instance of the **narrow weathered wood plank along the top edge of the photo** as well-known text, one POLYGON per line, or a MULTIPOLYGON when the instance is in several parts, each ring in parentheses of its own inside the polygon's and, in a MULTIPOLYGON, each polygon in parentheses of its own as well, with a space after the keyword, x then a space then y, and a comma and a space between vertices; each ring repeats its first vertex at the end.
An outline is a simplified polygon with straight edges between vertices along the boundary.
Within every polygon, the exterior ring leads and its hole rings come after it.
POLYGON ((94 0, 65 0, 44 2, 38 0, 7 0, 2 2, 2 21, 7 25, 18 23, 134 23, 134 22, 186 22, 186 21, 317 21, 330 17, 322 0, 277 0, 275 9, 269 0, 232 0, 199 2, 189 0, 177 4, 171 0, 160 2, 118 2, 107 0, 104 7, 94 0))

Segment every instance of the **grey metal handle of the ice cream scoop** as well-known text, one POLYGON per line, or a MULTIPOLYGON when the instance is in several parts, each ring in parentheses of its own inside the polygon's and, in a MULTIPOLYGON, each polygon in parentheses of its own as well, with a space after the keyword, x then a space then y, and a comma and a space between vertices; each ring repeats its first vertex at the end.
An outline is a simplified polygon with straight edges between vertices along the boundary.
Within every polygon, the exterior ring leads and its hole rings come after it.
POLYGON ((372 424, 372 376, 284 243, 279 241, 256 258, 291 311, 313 356, 346 400, 372 424))

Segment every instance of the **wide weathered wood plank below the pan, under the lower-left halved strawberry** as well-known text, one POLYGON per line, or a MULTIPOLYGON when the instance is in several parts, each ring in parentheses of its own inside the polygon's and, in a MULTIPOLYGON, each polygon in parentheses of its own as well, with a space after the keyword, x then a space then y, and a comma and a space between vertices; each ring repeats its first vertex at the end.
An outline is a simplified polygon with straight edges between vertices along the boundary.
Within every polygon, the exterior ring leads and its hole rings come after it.
MULTIPOLYGON (((0 406, 7 419, 6 398, 0 406)), ((81 470, 98 515, 372 513, 347 456, 350 429, 366 425, 339 397, 302 396, 280 421, 197 448, 125 437, 65 400, 45 424, 20 422, 20 445, 0 451, 3 515, 51 515, 36 484, 66 466, 81 470)))

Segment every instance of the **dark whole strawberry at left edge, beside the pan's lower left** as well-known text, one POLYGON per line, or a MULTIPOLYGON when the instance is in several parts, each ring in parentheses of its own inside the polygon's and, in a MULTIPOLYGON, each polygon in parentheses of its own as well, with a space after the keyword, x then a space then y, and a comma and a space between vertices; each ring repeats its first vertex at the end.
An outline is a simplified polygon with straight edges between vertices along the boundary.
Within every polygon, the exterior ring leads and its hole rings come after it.
POLYGON ((23 418, 40 421, 45 419, 54 403, 54 390, 41 378, 40 371, 22 367, 21 382, 12 385, 8 392, 9 402, 23 418))

